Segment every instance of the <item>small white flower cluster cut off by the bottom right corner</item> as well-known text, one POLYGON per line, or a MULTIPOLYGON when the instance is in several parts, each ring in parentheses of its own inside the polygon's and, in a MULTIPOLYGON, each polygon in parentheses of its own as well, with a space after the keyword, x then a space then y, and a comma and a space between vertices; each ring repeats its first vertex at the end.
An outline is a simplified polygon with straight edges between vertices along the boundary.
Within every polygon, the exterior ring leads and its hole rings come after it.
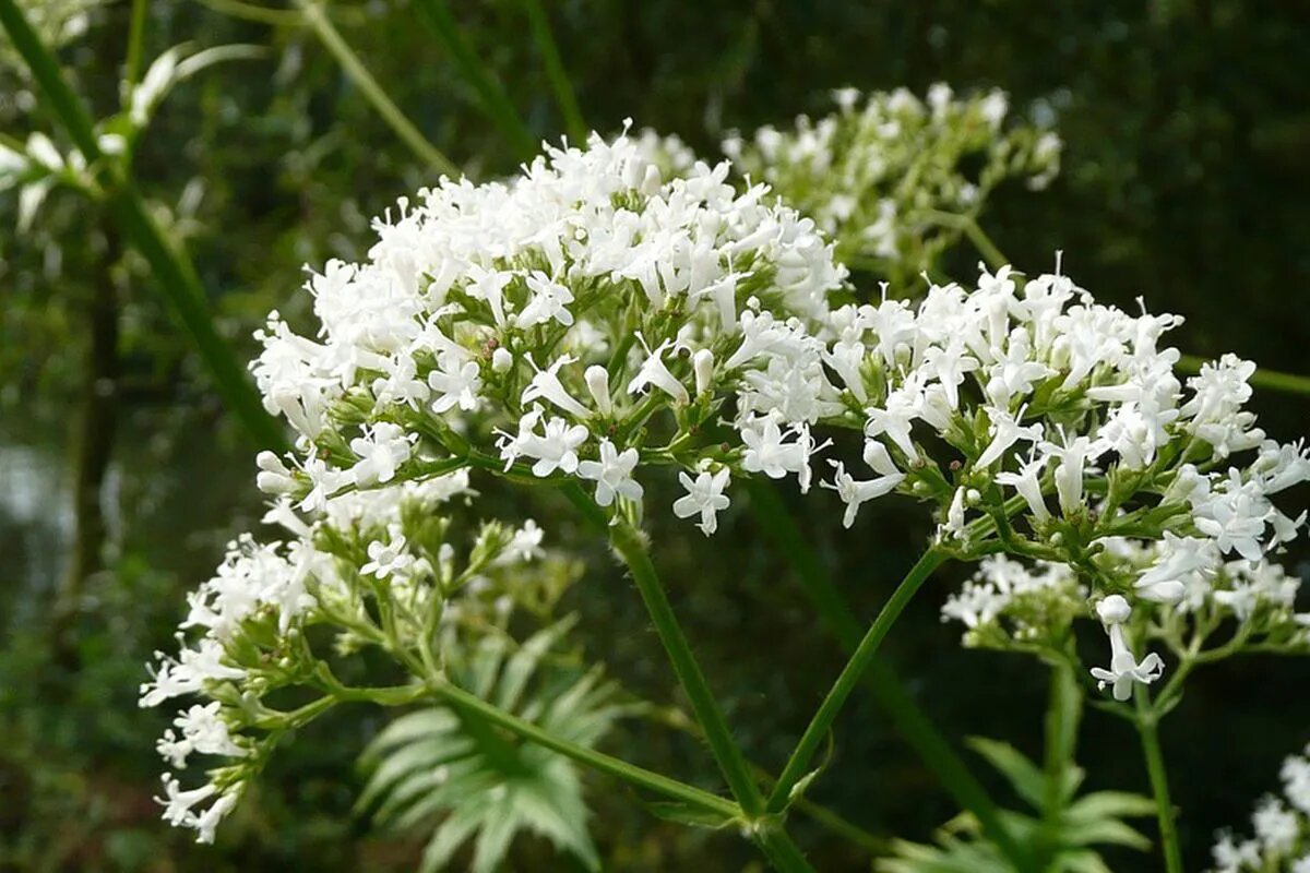
POLYGON ((1310 873, 1310 747, 1282 762, 1282 797, 1267 794, 1251 815, 1252 839, 1221 832, 1213 873, 1310 873))

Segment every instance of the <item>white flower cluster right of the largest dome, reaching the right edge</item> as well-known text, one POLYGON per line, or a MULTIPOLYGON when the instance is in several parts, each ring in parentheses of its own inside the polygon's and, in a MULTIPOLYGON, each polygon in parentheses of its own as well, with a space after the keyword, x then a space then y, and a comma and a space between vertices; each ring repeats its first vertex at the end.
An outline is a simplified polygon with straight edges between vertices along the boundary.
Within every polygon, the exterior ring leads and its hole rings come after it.
MULTIPOLYGON (((1058 274, 1020 289, 1009 268, 973 291, 934 285, 918 306, 836 310, 825 363, 845 412, 828 421, 863 431, 870 475, 834 463, 846 524, 899 491, 937 504, 947 551, 1047 561, 1034 576, 994 560, 952 598, 946 615, 979 643, 1068 627, 1083 586, 1248 618, 1279 572, 1262 561, 1305 521, 1272 497, 1310 478, 1310 458, 1244 410, 1254 365, 1225 356, 1184 387, 1161 347, 1179 322, 1096 304, 1058 274), (1124 554, 1133 539, 1158 546, 1124 554), (1221 573, 1221 559, 1238 563, 1221 573)), ((1102 619, 1124 656, 1127 615, 1102 619)))

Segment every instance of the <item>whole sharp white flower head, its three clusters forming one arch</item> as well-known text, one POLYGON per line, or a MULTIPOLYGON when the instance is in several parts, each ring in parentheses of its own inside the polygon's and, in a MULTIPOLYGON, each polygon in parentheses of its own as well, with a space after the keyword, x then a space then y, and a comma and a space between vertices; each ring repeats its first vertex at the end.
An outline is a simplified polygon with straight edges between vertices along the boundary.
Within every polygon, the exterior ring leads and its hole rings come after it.
MULTIPOLYGON (((166 759, 237 759, 199 793, 168 777, 170 821, 211 836, 261 759, 221 728, 261 725, 241 708, 259 678, 242 643, 265 639, 254 628, 284 640, 278 652, 313 622, 360 641, 350 610, 373 598, 410 615, 419 649, 394 654, 419 658, 460 588, 449 580, 532 554, 531 529, 493 526, 457 572, 444 522, 438 544, 411 530, 415 483, 465 467, 580 486, 625 524, 642 517, 643 480, 671 467, 685 490, 672 512, 706 535, 741 476, 807 491, 819 471, 846 526, 884 495, 925 501, 937 551, 993 556, 948 614, 980 639, 1026 641, 1096 615, 1111 657, 1094 677, 1119 699, 1161 675, 1162 658, 1133 647, 1172 639, 1170 616, 1263 609, 1244 592, 1264 582, 1243 580, 1267 579, 1297 535, 1303 517, 1273 496, 1310 478, 1310 459, 1244 410, 1251 364, 1226 356, 1182 378, 1163 344, 1180 318, 1098 304, 1058 264, 930 283, 913 305, 886 289, 862 300, 824 234, 766 186, 734 187, 727 164, 665 178, 648 153, 593 136, 508 182, 443 179, 376 221, 367 262, 312 274, 310 330, 270 317, 253 369, 297 442, 262 454, 258 479, 297 539, 241 543, 193 603, 198 648, 145 688, 145 704, 217 702, 179 716, 166 759), (858 463, 824 457, 841 431, 858 435, 858 463), (398 521, 343 518, 352 492, 388 495, 398 521), (1028 596, 1056 618, 1005 624, 1028 596)), ((1251 627, 1300 640, 1298 619, 1279 615, 1251 627)))

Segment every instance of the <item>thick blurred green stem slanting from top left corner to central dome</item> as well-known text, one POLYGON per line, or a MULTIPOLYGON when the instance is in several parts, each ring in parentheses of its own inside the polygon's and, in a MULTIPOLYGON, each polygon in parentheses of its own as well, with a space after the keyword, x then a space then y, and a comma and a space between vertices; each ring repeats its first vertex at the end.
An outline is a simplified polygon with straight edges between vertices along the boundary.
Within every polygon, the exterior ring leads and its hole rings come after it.
POLYGON ((14 0, 0 0, 0 25, 31 69, 47 111, 63 123, 88 166, 93 168, 118 226, 149 264, 160 294, 190 334, 227 407, 258 445, 284 449, 287 441, 282 428, 265 411, 248 374, 214 326, 195 267, 155 223, 131 179, 101 153, 86 107, 14 0))

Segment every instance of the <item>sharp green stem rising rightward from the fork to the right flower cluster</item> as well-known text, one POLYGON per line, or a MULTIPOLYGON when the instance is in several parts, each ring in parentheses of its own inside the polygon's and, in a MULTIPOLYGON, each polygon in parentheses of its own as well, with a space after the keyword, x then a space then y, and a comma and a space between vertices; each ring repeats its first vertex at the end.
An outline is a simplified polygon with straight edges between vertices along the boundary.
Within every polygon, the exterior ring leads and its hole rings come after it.
POLYGON ((800 742, 796 743, 795 751, 791 753, 791 758, 782 768, 782 775, 778 776, 778 784, 769 796, 768 811, 779 813, 787 808, 787 804, 791 801, 791 789, 804 776, 815 753, 819 751, 824 737, 828 736, 833 720, 841 712, 850 692, 855 690, 859 678, 869 669, 870 661, 878 653, 878 647, 882 644, 883 637, 887 636, 892 624, 900 618, 901 610, 914 597, 918 588, 945 560, 945 554, 935 548, 929 548, 910 568, 909 573, 905 575, 905 579, 896 586, 896 590, 892 592, 891 599, 878 613, 878 618, 874 619, 865 637, 852 653, 850 660, 846 661, 846 666, 837 675, 837 681, 829 688, 828 696, 819 704, 819 711, 810 720, 810 726, 800 736, 800 742))

